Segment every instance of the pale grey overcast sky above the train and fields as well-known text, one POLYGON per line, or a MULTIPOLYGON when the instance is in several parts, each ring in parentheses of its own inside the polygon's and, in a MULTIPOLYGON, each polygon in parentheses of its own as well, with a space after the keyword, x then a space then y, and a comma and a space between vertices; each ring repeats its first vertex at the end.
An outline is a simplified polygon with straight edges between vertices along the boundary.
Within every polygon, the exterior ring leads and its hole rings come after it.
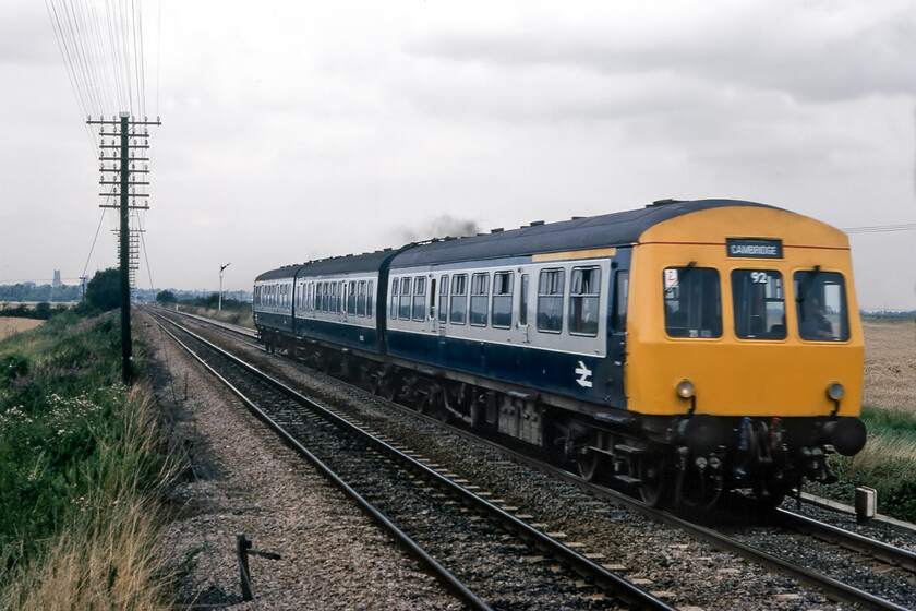
MULTIPOLYGON (((665 197, 916 223, 912 0, 144 7, 141 288, 665 197)), ((45 2, 0 4, 0 284, 75 284, 98 161, 45 2)), ((851 241, 860 307, 916 308, 916 231, 851 241)))

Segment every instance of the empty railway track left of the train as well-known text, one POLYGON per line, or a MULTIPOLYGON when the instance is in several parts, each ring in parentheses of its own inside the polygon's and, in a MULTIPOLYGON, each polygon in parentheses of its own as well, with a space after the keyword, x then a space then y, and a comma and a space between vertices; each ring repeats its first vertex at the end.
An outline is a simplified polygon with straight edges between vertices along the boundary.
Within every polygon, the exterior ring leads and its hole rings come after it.
POLYGON ((169 335, 289 445, 321 465, 470 608, 490 609, 487 600, 499 608, 673 611, 598 559, 577 552, 575 544, 477 493, 448 469, 417 459, 351 417, 299 394, 178 323, 169 324, 178 332, 166 330, 169 335), (487 559, 487 568, 475 566, 482 559, 487 559))

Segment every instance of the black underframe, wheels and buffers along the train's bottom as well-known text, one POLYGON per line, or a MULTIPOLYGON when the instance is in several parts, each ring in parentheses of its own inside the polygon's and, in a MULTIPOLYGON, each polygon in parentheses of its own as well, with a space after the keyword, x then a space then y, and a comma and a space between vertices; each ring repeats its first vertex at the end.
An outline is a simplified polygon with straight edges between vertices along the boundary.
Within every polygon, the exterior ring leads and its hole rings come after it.
POLYGON ((598 417, 552 405, 525 388, 398 364, 314 340, 262 333, 269 351, 444 422, 498 434, 561 460, 588 481, 626 489, 652 506, 706 511, 738 490, 758 507, 779 505, 805 479, 835 481, 827 455, 865 443, 858 418, 598 417), (833 447, 831 447, 833 446, 833 447))

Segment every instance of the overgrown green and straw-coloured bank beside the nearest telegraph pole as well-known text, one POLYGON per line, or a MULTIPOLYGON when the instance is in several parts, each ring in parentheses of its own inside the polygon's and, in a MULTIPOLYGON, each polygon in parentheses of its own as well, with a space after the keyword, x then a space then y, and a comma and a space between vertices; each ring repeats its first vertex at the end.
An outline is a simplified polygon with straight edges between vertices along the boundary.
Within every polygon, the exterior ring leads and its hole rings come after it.
POLYGON ((168 608, 149 393, 120 383, 112 313, 0 343, 0 610, 168 608))

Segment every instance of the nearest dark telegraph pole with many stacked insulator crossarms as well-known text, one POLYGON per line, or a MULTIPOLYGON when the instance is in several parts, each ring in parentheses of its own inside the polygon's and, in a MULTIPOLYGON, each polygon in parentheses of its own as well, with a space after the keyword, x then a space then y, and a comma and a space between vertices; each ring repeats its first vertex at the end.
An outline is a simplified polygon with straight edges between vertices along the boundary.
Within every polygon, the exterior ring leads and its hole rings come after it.
POLYGON ((103 204, 103 208, 117 208, 121 217, 121 229, 119 235, 120 243, 120 289, 121 289, 121 373, 124 384, 130 384, 133 381, 133 349, 131 346, 131 257, 130 257, 130 211, 131 209, 149 209, 149 205, 144 203, 137 205, 132 202, 135 197, 148 197, 146 193, 136 193, 136 185, 147 185, 148 181, 131 181, 133 173, 149 173, 149 167, 144 165, 143 169, 137 169, 134 165, 137 161, 148 161, 149 157, 145 153, 141 156, 134 155, 135 149, 149 148, 149 132, 146 130, 147 125, 161 125, 161 121, 147 121, 144 117, 143 121, 131 120, 129 112, 121 112, 111 121, 106 121, 99 118, 98 121, 93 121, 92 117, 86 121, 91 125, 101 125, 99 134, 101 135, 101 180, 99 184, 110 184, 110 193, 99 193, 104 197, 119 195, 119 204, 103 204), (111 128, 111 132, 106 133, 106 125, 111 128), (143 125, 143 133, 135 133, 137 125, 143 125), (105 136, 111 136, 110 144, 105 144, 105 136), (114 143, 114 137, 119 137, 119 143, 114 143), (143 144, 137 144, 137 139, 144 139, 143 144), (110 155, 106 155, 106 149, 112 149, 110 155), (120 154, 116 155, 114 151, 120 154), (112 161, 111 168, 106 166, 106 161, 112 161), (114 173, 118 180, 105 180, 106 173, 114 173))

